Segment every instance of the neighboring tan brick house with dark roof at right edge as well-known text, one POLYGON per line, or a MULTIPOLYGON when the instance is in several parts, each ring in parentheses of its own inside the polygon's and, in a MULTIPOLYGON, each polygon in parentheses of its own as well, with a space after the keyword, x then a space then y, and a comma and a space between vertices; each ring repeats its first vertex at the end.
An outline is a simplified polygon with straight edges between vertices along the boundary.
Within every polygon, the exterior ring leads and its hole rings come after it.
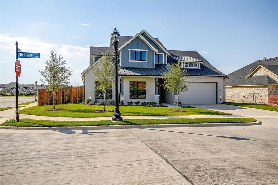
POLYGON ((257 60, 228 74, 226 101, 278 104, 278 58, 257 60))

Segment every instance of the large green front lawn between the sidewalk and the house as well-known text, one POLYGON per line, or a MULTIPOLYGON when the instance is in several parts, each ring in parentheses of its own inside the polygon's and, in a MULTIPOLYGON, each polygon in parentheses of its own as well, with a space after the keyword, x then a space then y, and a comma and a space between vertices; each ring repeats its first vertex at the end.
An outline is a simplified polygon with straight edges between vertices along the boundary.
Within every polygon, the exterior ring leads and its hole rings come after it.
MULTIPOLYGON (((53 108, 52 105, 34 106, 20 110, 20 114, 30 114, 37 116, 55 116, 55 117, 106 117, 112 116, 113 112, 95 113, 96 110, 102 110, 102 106, 89 106, 82 103, 55 105, 55 108, 64 108, 59 111, 45 111, 53 108)), ((114 110, 114 106, 106 106, 106 109, 114 110)), ((230 115, 208 109, 195 107, 180 107, 185 112, 173 112, 176 107, 143 107, 143 106, 120 106, 122 116, 143 116, 143 115, 230 115)))

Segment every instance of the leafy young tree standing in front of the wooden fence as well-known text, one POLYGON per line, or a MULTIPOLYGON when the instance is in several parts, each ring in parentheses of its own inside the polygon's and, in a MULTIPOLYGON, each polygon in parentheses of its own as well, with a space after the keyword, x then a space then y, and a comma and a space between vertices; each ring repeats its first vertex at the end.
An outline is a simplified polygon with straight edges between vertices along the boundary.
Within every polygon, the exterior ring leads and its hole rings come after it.
POLYGON ((66 61, 61 55, 55 53, 55 50, 52 50, 48 57, 50 59, 45 60, 44 71, 39 71, 39 73, 42 76, 40 80, 48 83, 48 90, 52 91, 53 109, 55 109, 55 91, 70 83, 69 76, 72 75, 72 71, 66 67, 66 61))

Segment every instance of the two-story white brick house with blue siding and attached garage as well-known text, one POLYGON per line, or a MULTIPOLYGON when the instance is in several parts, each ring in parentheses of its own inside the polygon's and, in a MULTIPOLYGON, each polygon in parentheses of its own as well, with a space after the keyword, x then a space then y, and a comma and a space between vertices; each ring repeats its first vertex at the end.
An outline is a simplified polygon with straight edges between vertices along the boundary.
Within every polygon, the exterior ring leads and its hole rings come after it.
MULTIPOLYGON (((114 53, 110 47, 90 47, 89 68, 82 74, 85 98, 101 100, 102 92, 95 87, 93 68, 103 53, 114 53)), ((225 74, 214 68, 197 51, 167 50, 158 38, 143 30, 134 36, 120 36, 119 46, 119 100, 155 101, 174 104, 176 95, 164 89, 162 72, 169 70, 169 64, 180 62, 189 74, 184 83, 189 84, 186 92, 180 93, 182 104, 214 104, 224 100, 223 79, 225 74)), ((114 99, 114 90, 111 89, 114 99)))

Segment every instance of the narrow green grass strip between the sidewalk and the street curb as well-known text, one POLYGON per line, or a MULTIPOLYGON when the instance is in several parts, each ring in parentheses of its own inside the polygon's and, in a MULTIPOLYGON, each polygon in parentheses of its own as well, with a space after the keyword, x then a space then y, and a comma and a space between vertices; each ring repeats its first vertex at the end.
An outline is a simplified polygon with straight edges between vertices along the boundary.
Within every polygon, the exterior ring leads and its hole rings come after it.
POLYGON ((255 122, 254 118, 196 118, 196 119, 127 119, 122 122, 108 121, 48 121, 20 119, 9 120, 0 126, 97 126, 97 125, 143 125, 143 124, 189 124, 189 123, 240 123, 255 122))

